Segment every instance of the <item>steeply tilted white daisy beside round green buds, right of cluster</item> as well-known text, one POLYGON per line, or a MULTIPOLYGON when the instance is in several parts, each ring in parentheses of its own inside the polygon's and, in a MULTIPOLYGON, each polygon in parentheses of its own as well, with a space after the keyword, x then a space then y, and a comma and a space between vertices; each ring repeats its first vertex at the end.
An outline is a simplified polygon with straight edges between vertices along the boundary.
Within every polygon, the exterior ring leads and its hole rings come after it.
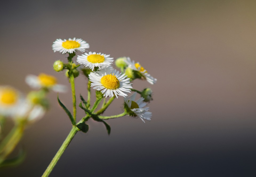
POLYGON ((131 69, 138 71, 142 77, 146 78, 147 82, 150 84, 155 84, 157 82, 157 79, 153 78, 146 69, 144 69, 139 62, 135 63, 135 61, 131 61, 130 57, 126 58, 126 63, 128 64, 128 67, 131 69))

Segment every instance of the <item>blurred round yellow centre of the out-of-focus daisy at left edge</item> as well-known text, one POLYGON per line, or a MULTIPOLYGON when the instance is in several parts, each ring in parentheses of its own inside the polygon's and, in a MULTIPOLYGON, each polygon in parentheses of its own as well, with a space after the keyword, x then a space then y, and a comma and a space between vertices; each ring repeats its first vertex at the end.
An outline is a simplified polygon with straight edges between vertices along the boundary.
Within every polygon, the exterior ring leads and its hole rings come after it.
POLYGON ((18 100, 18 93, 13 89, 5 89, 1 91, 1 103, 12 105, 15 104, 18 100))

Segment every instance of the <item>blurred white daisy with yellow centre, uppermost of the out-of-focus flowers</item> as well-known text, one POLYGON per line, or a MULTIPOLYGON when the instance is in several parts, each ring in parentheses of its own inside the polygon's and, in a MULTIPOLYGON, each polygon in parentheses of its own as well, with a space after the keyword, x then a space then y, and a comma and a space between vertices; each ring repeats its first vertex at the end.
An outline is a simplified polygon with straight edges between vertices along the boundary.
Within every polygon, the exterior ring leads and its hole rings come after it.
POLYGON ((47 88, 56 92, 66 91, 66 86, 57 84, 57 79, 55 77, 44 73, 41 73, 38 76, 28 75, 26 77, 26 82, 34 89, 47 88))

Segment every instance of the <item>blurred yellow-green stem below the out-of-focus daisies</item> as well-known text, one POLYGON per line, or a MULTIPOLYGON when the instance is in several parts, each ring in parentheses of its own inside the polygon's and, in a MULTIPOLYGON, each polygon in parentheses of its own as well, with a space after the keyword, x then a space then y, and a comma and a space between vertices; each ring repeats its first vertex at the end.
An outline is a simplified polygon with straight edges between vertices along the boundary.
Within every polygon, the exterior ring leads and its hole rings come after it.
POLYGON ((0 164, 14 150, 18 142, 21 140, 25 129, 25 122, 17 123, 11 132, 6 136, 0 145, 0 164))

